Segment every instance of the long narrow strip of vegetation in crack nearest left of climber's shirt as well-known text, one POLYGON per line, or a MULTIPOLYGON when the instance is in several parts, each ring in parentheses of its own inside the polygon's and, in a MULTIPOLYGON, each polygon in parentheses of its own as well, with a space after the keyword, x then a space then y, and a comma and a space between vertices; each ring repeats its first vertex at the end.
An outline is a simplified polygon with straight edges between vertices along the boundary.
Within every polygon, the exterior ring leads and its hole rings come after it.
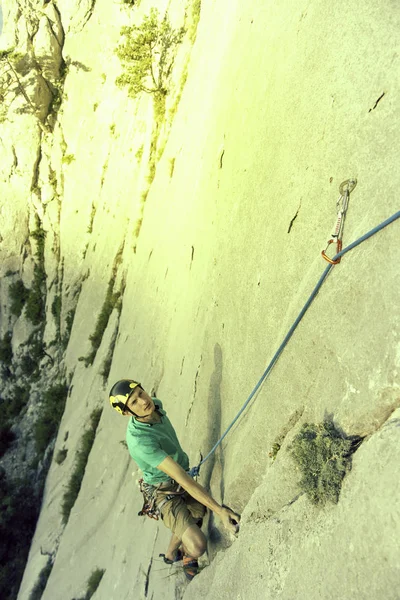
POLYGON ((63 523, 67 523, 72 507, 74 506, 79 494, 79 490, 81 489, 87 461, 89 459, 89 454, 92 449, 94 440, 96 438, 96 430, 100 421, 102 411, 102 408, 98 408, 92 412, 92 414, 90 415, 89 428, 85 431, 81 438, 79 450, 75 458, 74 470, 68 482, 67 489, 64 493, 61 505, 63 523))

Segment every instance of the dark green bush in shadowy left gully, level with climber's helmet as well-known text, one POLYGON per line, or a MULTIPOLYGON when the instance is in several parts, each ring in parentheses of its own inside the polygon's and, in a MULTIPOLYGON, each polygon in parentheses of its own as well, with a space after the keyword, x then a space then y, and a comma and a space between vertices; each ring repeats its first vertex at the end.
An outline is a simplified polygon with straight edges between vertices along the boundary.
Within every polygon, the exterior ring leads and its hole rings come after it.
POLYGON ((33 430, 36 452, 39 458, 43 456, 47 446, 57 435, 67 395, 68 387, 64 383, 54 385, 43 394, 40 417, 33 430))

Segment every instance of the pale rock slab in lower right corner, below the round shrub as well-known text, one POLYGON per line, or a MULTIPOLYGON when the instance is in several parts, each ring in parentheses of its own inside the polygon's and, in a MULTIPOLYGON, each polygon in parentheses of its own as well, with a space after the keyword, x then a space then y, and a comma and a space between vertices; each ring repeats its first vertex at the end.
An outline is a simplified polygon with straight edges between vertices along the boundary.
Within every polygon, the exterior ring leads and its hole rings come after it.
MULTIPOLYGON (((397 598, 399 425, 397 409, 363 443, 337 506, 313 508, 301 496, 269 518, 246 509, 238 540, 193 581, 185 600, 397 598)), ((252 502, 264 502, 271 484, 279 490, 279 479, 267 476, 252 502)))

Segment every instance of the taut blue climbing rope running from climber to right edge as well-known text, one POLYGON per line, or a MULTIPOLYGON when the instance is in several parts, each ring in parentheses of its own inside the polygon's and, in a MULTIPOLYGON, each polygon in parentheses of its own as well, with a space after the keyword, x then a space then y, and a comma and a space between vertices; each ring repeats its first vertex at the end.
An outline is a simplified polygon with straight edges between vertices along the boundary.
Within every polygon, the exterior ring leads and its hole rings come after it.
MULTIPOLYGON (((394 215, 392 215, 391 217, 389 217, 389 219, 386 219, 386 221, 383 221, 380 225, 377 225, 376 227, 374 227, 373 229, 371 229, 370 231, 368 231, 367 233, 365 233, 364 235, 362 235, 355 242, 352 242, 351 244, 349 244, 348 246, 346 246, 346 248, 343 248, 343 250, 341 250, 340 252, 338 252, 333 257, 332 261, 336 261, 337 259, 341 258, 345 254, 347 254, 347 252, 350 252, 350 250, 353 250, 353 248, 355 248, 356 246, 359 246, 362 242, 364 242, 368 238, 372 237, 373 235, 375 235, 375 233, 378 233, 378 231, 381 231, 382 229, 384 229, 385 227, 387 227, 388 225, 390 225, 390 223, 393 223, 394 221, 396 221, 396 219, 398 219, 398 218, 400 218, 400 211, 394 213, 394 215)), ((218 442, 213 446, 213 448, 210 450, 210 452, 207 454, 207 456, 205 458, 203 458, 199 462, 199 464, 197 466, 192 467, 190 469, 189 473, 190 473, 190 475, 192 477, 196 477, 200 473, 200 467, 201 467, 201 465, 203 465, 206 462, 206 460, 208 460, 210 458, 210 456, 215 452, 215 450, 218 448, 218 446, 222 443, 223 439, 227 436, 227 434, 229 433, 229 431, 232 429, 232 427, 234 426, 234 424, 236 423, 236 421, 239 419, 239 417, 241 416, 241 414, 246 410, 249 402, 251 402, 251 400, 254 397, 254 395, 260 389, 262 383, 265 381, 265 379, 268 377, 268 375, 272 371, 273 367, 275 366, 275 363, 277 362, 278 358, 282 354, 282 352, 283 352, 286 344, 288 343, 288 341, 292 337, 292 335, 295 332, 298 324, 300 323, 300 321, 302 320, 302 318, 306 314, 306 312, 309 309, 312 301, 314 300, 314 298, 318 294, 318 292, 319 292, 322 284, 324 283, 325 279, 327 278, 330 270, 334 266, 335 266, 334 264, 329 264, 326 267, 325 271, 322 273, 322 275, 321 275, 321 277, 320 277, 317 285, 315 286, 315 288, 311 292, 310 297, 308 298, 307 302, 305 303, 305 305, 301 309, 301 311, 300 311, 298 317, 296 318, 295 322, 293 323, 293 325, 291 326, 291 328, 287 332, 287 334, 286 334, 283 342, 279 346, 278 350, 275 352, 274 356, 272 357, 272 360, 269 363, 268 367, 265 369, 264 373, 261 375, 258 383, 254 387, 253 391, 251 392, 250 396, 247 398, 246 402, 243 404, 242 408, 240 409, 240 411, 238 412, 238 414, 236 415, 236 417, 233 419, 232 423, 229 425, 228 429, 220 437, 220 439, 218 440, 218 442)))

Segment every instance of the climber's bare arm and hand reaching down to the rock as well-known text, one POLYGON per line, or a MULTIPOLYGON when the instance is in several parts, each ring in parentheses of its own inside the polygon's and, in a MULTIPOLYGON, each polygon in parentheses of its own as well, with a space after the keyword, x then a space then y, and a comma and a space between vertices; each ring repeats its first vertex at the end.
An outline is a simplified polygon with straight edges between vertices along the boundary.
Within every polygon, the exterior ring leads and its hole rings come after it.
POLYGON ((221 506, 210 496, 205 488, 202 485, 197 483, 194 479, 190 477, 186 473, 184 469, 173 458, 167 456, 157 467, 163 473, 166 473, 171 479, 174 479, 177 483, 179 483, 184 490, 187 491, 193 498, 195 498, 198 502, 207 506, 210 510, 212 510, 216 515, 220 517, 223 524, 227 529, 232 531, 232 533, 237 533, 239 530, 239 521, 240 517, 229 508, 225 508, 221 506))

